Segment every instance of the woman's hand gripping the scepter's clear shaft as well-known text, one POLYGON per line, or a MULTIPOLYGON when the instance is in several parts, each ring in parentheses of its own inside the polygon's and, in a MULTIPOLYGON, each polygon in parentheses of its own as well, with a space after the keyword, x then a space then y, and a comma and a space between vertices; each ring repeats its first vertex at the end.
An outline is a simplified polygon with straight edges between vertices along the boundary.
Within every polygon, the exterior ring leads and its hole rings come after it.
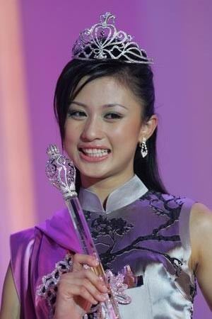
POLYGON ((59 281, 54 319, 81 319, 91 305, 105 301, 107 287, 83 264, 96 267, 98 261, 87 254, 73 255, 72 272, 62 274, 59 281))

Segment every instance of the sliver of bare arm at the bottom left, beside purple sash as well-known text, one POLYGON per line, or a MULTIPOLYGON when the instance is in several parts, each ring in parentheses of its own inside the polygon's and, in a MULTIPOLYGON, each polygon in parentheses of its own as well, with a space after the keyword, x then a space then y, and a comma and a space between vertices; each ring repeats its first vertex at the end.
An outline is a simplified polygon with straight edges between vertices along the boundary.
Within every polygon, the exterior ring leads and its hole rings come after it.
POLYGON ((11 266, 8 266, 4 280, 4 289, 1 300, 0 319, 19 319, 20 303, 13 281, 11 266))

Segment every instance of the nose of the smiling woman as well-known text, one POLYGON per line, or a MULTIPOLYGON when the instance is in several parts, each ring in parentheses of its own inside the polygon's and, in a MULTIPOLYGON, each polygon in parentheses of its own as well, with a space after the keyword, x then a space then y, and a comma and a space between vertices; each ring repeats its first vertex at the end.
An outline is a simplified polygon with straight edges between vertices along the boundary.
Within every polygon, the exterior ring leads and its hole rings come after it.
POLYGON ((92 140, 100 140, 102 138, 102 123, 99 118, 88 118, 83 127, 83 131, 81 133, 81 139, 83 141, 92 141, 92 140))

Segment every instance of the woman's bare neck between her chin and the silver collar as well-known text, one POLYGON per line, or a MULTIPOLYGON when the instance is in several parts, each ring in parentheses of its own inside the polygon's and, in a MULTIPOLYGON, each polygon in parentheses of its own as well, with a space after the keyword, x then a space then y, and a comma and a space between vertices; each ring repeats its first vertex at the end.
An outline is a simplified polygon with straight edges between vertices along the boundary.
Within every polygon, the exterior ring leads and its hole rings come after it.
POLYGON ((126 181, 129 181, 129 179, 131 179, 133 176, 134 173, 129 174, 129 176, 107 177, 105 179, 93 179, 90 177, 81 176, 81 182, 83 188, 93 191, 93 193, 100 198, 102 205, 105 206, 107 197, 110 195, 110 193, 112 193, 114 189, 117 189, 119 186, 126 183, 126 181))

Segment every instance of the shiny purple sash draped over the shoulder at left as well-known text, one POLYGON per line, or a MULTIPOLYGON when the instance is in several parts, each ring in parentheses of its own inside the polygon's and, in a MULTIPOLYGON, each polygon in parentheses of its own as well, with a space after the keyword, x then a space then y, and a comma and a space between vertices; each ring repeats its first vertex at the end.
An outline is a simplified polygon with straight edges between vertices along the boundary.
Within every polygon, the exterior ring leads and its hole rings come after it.
POLYGON ((35 228, 11 235, 11 268, 21 319, 49 318, 49 308, 45 299, 37 296, 37 287, 67 252, 81 252, 67 209, 35 228))

